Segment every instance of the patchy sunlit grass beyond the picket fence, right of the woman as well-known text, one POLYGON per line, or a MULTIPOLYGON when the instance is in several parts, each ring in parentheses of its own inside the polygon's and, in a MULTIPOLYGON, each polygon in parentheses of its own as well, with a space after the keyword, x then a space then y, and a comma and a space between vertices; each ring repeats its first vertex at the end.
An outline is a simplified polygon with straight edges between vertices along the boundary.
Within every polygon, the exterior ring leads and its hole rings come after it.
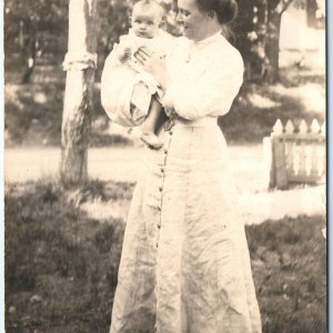
MULTIPOLYGON (((309 80, 312 82, 312 79, 309 80)), ((271 135, 278 119, 281 119, 284 124, 291 119, 296 128, 302 119, 309 125, 313 119, 317 119, 320 123, 324 121, 324 110, 309 111, 304 105, 302 98, 305 98, 305 92, 302 91, 302 85, 296 85, 299 88, 294 89, 294 93, 287 93, 289 84, 292 83, 284 82, 284 84, 275 87, 244 84, 231 111, 219 119, 226 140, 231 143, 261 143, 264 137, 271 135)), ((320 88, 312 89, 310 88, 310 91, 315 94, 315 98, 319 92, 322 92, 320 88)), ((323 100, 324 97, 319 102, 323 103, 323 100)))

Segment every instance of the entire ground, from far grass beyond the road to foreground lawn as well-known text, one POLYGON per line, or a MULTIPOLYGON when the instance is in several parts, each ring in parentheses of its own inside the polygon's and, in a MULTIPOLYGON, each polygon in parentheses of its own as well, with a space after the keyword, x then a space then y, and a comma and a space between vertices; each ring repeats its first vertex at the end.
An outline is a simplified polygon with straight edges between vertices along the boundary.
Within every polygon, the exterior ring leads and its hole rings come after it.
MULTIPOLYGON (((57 71, 59 69, 53 69, 57 71)), ((52 69, 51 69, 52 71, 52 69)), ((264 333, 326 332, 325 184, 268 189, 262 139, 276 119, 325 119, 325 78, 287 69, 244 84, 219 123, 246 223, 264 333)), ((36 79, 34 79, 36 80, 36 79)), ((33 80, 32 80, 33 81, 33 80)), ((90 181, 58 181, 63 81, 21 85, 7 72, 4 218, 7 332, 108 332, 124 223, 142 147, 110 123, 95 85, 90 181)))

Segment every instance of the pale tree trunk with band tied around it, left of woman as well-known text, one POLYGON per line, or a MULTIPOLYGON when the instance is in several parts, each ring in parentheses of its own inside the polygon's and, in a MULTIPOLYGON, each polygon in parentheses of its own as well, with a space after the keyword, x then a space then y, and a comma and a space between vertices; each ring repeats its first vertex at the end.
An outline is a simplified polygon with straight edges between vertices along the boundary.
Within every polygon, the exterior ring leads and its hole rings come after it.
POLYGON ((61 129, 61 181, 80 185, 88 179, 87 158, 91 129, 97 50, 97 0, 70 0, 69 47, 61 129))

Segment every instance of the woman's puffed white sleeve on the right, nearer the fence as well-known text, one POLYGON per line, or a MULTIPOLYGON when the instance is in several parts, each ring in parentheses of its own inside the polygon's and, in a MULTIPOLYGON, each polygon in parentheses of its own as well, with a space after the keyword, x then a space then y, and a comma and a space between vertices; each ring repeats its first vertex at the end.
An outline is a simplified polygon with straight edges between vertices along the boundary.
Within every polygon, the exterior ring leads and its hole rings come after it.
POLYGON ((223 115, 229 112, 243 82, 243 60, 238 50, 215 52, 205 58, 199 75, 195 63, 188 71, 175 75, 167 89, 163 104, 188 120, 205 115, 223 115))

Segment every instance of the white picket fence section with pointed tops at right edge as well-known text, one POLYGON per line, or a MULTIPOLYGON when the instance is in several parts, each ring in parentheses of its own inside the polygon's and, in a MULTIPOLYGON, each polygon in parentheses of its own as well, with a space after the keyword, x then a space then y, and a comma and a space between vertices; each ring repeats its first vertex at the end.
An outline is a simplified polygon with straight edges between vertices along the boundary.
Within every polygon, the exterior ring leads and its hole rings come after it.
POLYGON ((271 137, 263 139, 269 186, 287 189, 291 183, 321 183, 326 175, 325 123, 314 119, 309 127, 279 119, 271 137))

